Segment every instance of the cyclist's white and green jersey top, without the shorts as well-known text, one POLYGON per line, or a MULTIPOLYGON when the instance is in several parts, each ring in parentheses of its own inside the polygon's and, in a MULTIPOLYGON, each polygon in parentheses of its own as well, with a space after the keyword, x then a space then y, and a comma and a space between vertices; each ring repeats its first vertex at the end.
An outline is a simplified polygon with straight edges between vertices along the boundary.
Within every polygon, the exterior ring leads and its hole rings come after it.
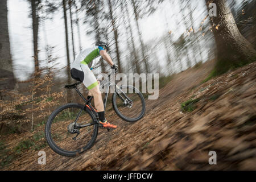
POLYGON ((71 68, 76 68, 82 71, 80 64, 85 64, 92 69, 100 60, 100 49, 101 47, 99 48, 98 46, 95 46, 82 50, 79 55, 77 55, 73 63, 71 63, 71 68))

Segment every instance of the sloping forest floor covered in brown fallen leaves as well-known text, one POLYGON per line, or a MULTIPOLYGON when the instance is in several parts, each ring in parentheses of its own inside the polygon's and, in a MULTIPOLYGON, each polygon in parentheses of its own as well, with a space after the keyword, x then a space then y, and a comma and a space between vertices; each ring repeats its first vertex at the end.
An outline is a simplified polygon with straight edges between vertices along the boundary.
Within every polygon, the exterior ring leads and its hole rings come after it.
POLYGON ((1 155, 9 160, 2 170, 256 170, 256 63, 203 83, 213 65, 207 61, 175 75, 159 90, 158 100, 146 100, 146 114, 138 122, 122 121, 109 111, 106 118, 118 128, 99 129, 94 146, 73 158, 45 144, 44 126, 1 136, 1 155), (181 111, 189 100, 195 101, 194 110, 181 111), (32 147, 13 154, 35 134, 46 165, 38 164, 32 147), (216 151, 217 165, 209 164, 209 151, 216 151))

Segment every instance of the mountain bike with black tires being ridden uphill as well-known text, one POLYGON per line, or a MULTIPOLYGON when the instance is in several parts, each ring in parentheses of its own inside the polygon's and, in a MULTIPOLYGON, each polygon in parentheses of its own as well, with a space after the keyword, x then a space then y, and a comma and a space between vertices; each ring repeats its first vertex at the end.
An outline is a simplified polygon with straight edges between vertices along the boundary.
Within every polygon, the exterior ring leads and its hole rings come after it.
MULTIPOLYGON (((108 77, 110 80, 110 75, 108 77)), ((69 103, 60 106, 52 112, 46 123, 45 135, 49 147, 63 156, 75 156, 88 150, 96 141, 98 128, 103 128, 97 110, 91 104, 93 97, 86 100, 77 89, 79 84, 81 82, 65 85, 65 88, 75 89, 85 103, 69 103)), ((111 86, 114 86, 112 105, 115 113, 127 122, 136 122, 141 119, 145 113, 144 97, 137 88, 131 85, 119 87, 115 82, 108 80, 100 84, 101 89, 106 88, 104 109, 106 109, 111 86)))

